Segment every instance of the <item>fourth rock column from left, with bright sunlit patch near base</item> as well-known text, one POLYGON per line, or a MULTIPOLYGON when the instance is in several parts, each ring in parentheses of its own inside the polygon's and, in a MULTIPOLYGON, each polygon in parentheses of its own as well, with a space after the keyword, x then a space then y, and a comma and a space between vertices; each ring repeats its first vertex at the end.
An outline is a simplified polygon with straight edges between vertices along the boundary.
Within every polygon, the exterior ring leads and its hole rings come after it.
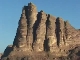
POLYGON ((47 24, 46 24, 47 26, 46 36, 47 36, 50 52, 53 52, 55 50, 55 47, 57 47, 57 39, 55 34, 55 27, 56 27, 55 22, 56 22, 56 18, 51 15, 48 15, 47 24))

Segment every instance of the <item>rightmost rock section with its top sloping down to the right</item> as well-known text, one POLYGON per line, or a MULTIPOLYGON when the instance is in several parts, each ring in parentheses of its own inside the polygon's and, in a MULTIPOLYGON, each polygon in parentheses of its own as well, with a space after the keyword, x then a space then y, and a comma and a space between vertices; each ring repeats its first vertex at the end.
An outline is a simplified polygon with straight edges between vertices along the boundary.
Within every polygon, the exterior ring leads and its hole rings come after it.
POLYGON ((66 32, 66 43, 68 45, 76 45, 80 44, 79 39, 80 39, 80 31, 76 30, 74 27, 70 25, 68 21, 65 22, 65 32, 66 32))

